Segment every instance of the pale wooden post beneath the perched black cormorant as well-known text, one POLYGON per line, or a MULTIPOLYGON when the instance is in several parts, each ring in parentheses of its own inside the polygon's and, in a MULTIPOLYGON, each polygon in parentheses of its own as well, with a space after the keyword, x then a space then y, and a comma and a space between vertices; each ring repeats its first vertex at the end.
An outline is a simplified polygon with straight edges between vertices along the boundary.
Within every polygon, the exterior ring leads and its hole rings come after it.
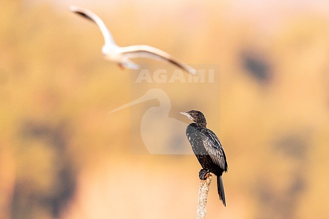
POLYGON ((208 199, 208 191, 210 188, 210 184, 212 182, 212 174, 209 174, 208 178, 205 180, 200 180, 200 185, 198 187, 199 196, 197 199, 197 210, 195 219, 204 219, 205 214, 207 214, 207 199, 208 199))

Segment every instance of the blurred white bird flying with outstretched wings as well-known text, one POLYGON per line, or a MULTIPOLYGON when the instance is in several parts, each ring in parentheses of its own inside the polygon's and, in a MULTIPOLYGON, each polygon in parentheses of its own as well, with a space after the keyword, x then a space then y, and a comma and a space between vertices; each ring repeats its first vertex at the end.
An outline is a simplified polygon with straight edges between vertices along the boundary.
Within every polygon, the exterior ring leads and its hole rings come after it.
POLYGON ((71 6, 70 11, 79 14, 89 20, 95 22, 101 29, 105 44, 102 48, 104 57, 108 60, 118 63, 121 68, 139 69, 139 65, 134 63, 132 58, 149 58, 149 59, 160 59, 168 61, 179 68, 191 73, 196 74, 196 70, 184 62, 173 57, 169 53, 160 49, 147 46, 147 45, 134 45, 128 47, 119 47, 115 44, 110 31, 105 26, 104 22, 92 11, 88 9, 71 6))

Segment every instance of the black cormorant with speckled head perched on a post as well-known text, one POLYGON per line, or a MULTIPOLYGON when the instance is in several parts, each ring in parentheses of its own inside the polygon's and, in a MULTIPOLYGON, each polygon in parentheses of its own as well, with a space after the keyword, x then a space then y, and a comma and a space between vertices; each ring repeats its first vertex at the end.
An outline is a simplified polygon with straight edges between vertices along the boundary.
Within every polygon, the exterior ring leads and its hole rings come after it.
POLYGON ((193 121, 186 128, 186 136, 202 166, 199 178, 206 179, 209 172, 216 174, 219 198, 226 206, 222 174, 227 172, 228 167, 223 146, 215 133, 207 128, 207 121, 202 112, 190 110, 181 114, 193 121))

